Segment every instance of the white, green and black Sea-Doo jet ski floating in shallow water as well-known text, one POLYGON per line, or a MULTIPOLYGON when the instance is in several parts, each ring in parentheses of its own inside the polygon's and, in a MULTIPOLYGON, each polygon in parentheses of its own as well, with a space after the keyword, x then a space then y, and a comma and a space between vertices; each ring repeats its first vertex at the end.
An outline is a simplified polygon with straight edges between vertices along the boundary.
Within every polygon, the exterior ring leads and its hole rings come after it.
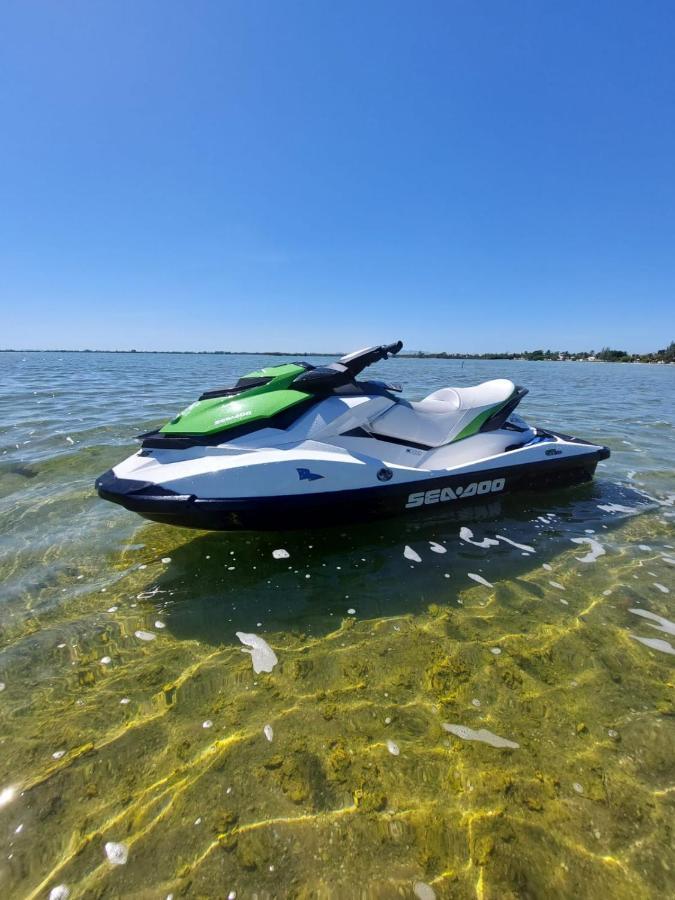
POLYGON ((208 390, 96 481, 146 519, 215 530, 285 530, 438 513, 588 481, 607 447, 526 424, 506 378, 423 400, 358 376, 401 341, 329 365, 263 368, 208 390))

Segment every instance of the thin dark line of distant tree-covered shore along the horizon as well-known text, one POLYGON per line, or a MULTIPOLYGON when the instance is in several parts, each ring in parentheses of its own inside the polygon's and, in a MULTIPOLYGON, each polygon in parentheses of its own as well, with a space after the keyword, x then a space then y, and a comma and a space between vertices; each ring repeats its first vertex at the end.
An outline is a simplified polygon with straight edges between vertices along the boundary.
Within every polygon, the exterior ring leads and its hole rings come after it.
MULTIPOLYGON (((340 357, 342 351, 334 353, 316 351, 282 351, 282 350, 40 350, 37 348, 15 349, 7 347, 0 349, 0 353, 111 353, 111 354, 151 354, 154 356, 279 356, 305 359, 309 356, 340 357)), ((442 359, 442 360, 500 360, 504 362, 642 362, 656 365, 675 364, 675 342, 672 342, 665 350, 653 353, 625 353, 622 350, 599 351, 597 355, 591 352, 569 353, 558 350, 534 350, 522 353, 429 353, 426 351, 414 351, 412 353, 399 353, 398 359, 442 359)))

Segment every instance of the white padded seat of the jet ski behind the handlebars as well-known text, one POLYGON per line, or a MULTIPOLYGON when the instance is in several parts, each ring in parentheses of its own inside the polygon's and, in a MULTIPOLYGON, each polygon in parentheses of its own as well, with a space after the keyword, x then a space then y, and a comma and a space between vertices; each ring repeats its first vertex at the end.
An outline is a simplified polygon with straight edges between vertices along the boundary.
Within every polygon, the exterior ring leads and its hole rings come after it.
POLYGON ((441 388, 417 402, 399 401, 371 422, 374 434, 440 447, 475 434, 516 393, 507 378, 468 388, 441 388))

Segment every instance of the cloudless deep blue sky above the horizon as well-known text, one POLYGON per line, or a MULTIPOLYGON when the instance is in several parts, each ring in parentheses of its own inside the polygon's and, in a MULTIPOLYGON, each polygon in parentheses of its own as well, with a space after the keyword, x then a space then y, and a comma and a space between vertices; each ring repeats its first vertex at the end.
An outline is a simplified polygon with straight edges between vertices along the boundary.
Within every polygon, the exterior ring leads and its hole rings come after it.
POLYGON ((675 339, 675 4, 4 0, 0 346, 675 339))

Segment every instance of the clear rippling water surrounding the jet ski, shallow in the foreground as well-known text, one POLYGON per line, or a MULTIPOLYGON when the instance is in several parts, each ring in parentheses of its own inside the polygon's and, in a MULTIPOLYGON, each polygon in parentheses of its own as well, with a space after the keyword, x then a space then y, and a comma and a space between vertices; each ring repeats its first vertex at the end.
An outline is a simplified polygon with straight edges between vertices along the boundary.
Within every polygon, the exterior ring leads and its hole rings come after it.
POLYGON ((379 366, 512 378, 612 450, 460 518, 208 534, 97 499, 133 435, 281 361, 0 353, 0 895, 672 895, 675 368, 379 366))

